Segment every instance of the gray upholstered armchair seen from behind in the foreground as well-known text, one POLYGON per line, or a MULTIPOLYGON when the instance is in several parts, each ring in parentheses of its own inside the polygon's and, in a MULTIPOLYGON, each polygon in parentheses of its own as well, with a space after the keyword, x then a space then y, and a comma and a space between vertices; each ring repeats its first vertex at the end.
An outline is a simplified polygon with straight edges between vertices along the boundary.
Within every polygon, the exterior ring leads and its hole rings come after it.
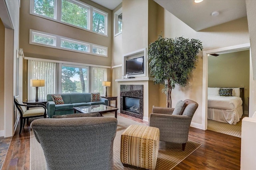
POLYGON ((112 170, 114 117, 37 119, 31 128, 48 170, 112 170))

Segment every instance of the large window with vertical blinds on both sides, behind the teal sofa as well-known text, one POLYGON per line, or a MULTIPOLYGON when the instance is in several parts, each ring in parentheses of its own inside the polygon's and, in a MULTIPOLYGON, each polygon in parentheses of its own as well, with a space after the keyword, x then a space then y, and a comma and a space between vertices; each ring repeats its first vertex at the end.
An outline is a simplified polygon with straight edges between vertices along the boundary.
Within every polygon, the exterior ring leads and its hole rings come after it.
POLYGON ((46 99, 47 94, 54 93, 99 92, 103 95, 106 88, 102 81, 109 81, 108 77, 110 68, 28 59, 28 100, 33 100, 36 94, 36 88, 30 87, 30 79, 45 80, 45 86, 38 88, 38 98, 46 99))

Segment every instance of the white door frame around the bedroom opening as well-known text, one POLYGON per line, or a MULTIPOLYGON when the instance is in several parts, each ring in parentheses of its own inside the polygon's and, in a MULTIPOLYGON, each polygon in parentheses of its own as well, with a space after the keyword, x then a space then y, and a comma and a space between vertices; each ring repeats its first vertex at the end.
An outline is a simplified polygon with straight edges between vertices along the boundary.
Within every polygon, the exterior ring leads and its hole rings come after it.
MULTIPOLYGON (((236 52, 236 51, 242 51, 244 49, 250 49, 250 43, 203 51, 203 82, 202 82, 202 129, 203 130, 207 130, 208 55, 212 53, 236 52)), ((250 58, 251 58, 251 53, 250 53, 250 58)))

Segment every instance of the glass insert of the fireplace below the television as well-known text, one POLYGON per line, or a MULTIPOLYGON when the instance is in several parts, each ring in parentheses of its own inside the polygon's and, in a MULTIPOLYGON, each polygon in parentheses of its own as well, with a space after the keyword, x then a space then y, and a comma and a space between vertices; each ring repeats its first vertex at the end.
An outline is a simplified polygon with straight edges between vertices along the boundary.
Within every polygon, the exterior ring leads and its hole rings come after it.
POLYGON ((132 111, 136 114, 140 114, 140 98, 131 98, 123 96, 123 101, 123 110, 132 111))

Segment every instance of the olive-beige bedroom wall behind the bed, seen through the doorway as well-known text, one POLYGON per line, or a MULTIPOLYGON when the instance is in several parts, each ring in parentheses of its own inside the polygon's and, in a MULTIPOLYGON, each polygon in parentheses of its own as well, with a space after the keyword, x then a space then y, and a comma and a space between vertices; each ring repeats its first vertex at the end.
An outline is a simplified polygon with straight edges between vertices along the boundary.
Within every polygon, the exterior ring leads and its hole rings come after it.
POLYGON ((244 111, 248 111, 250 51, 208 56, 208 87, 244 87, 244 111))

